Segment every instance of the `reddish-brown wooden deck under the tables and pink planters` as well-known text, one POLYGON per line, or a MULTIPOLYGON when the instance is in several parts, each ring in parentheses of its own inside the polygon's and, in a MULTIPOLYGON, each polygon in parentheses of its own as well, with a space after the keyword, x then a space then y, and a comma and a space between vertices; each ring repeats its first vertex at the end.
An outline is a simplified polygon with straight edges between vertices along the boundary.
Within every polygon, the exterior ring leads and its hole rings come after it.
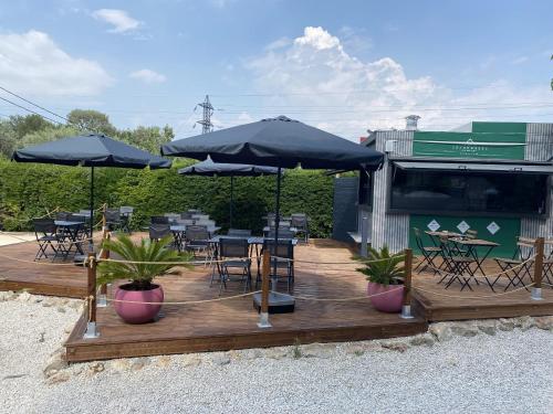
MULTIPOLYGON (((86 273, 76 266, 34 264, 35 243, 0 247, 0 290, 29 289, 34 294, 84 297, 86 273), (24 262, 8 259, 4 256, 24 262), (31 263, 30 263, 31 262, 31 263)), ((314 301, 305 298, 351 298, 366 295, 366 282, 355 272, 347 245, 315 240, 296 247, 299 261, 349 262, 346 265, 296 263, 293 314, 271 316, 270 329, 257 327, 258 314, 252 298, 242 297, 196 305, 165 305, 163 317, 153 323, 126 325, 109 305, 98 308, 101 337, 84 340, 84 317, 66 341, 69 361, 86 361, 118 357, 154 355, 192 351, 271 347, 295 342, 351 341, 415 335, 427 329, 427 321, 472 318, 498 318, 525 315, 553 315, 553 289, 543 288, 542 301, 534 301, 526 290, 493 295, 484 285, 474 291, 445 289, 428 273, 414 275, 414 310, 416 318, 405 320, 398 315, 382 314, 369 300, 314 301), (418 288, 418 289, 417 289, 418 288)), ((255 272, 255 268, 253 268, 255 272)), ((487 272, 495 272, 492 263, 487 272)), ((210 270, 198 266, 180 276, 164 277, 166 301, 190 301, 218 298, 219 286, 209 287, 210 270)), ((499 287, 499 285, 498 285, 499 287)), ((279 290, 283 291, 282 283, 279 290)), ((502 291, 501 288, 498 293, 502 291)), ((242 293, 238 283, 229 284, 223 294, 242 293)), ((109 295, 111 296, 111 295, 109 295)))

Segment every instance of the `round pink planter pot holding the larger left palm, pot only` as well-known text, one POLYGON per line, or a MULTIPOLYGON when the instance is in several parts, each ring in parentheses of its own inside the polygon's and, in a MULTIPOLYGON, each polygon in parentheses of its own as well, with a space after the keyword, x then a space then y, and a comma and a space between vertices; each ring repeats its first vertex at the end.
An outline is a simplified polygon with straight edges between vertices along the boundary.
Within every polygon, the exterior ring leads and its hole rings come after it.
MULTIPOLYGON (((152 285, 150 290, 132 290, 132 285, 121 285, 115 290, 115 299, 129 301, 163 302, 164 289, 159 285, 152 285)), ((127 323, 146 323, 159 314, 161 305, 114 302, 115 311, 127 323)))

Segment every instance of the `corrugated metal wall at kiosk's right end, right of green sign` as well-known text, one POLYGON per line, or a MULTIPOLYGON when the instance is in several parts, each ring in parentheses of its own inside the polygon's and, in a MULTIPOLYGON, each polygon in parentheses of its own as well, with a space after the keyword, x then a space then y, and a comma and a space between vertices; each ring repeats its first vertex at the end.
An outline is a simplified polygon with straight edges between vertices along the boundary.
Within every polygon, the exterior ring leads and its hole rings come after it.
MULTIPOLYGON (((553 157, 553 124, 528 124, 524 159, 547 161, 551 157, 553 157)), ((551 191, 553 188, 550 179, 550 194, 551 191)), ((553 197, 550 197, 547 219, 523 217, 521 220, 521 236, 553 238, 553 197)))

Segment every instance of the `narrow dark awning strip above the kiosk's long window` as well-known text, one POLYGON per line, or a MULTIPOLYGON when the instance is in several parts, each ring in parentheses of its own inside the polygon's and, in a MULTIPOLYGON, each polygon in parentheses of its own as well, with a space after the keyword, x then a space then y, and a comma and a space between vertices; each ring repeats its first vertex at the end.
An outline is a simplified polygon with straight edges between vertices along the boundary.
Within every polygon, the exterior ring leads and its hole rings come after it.
POLYGON ((532 163, 478 163, 478 162, 431 162, 394 161, 401 170, 422 171, 468 171, 468 172, 511 172, 529 174, 553 174, 552 164, 532 163))

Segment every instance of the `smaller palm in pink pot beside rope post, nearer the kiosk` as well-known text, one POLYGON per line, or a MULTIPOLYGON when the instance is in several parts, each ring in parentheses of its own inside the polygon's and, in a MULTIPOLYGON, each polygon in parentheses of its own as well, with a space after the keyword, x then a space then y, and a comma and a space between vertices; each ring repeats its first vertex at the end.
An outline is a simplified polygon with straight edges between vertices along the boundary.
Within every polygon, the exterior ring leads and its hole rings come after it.
POLYGON ((401 310, 404 298, 405 254, 390 254, 388 246, 379 251, 368 247, 367 257, 359 257, 365 267, 358 268, 368 280, 367 293, 371 304, 384 312, 401 310), (376 295, 376 296, 375 296, 376 295))

